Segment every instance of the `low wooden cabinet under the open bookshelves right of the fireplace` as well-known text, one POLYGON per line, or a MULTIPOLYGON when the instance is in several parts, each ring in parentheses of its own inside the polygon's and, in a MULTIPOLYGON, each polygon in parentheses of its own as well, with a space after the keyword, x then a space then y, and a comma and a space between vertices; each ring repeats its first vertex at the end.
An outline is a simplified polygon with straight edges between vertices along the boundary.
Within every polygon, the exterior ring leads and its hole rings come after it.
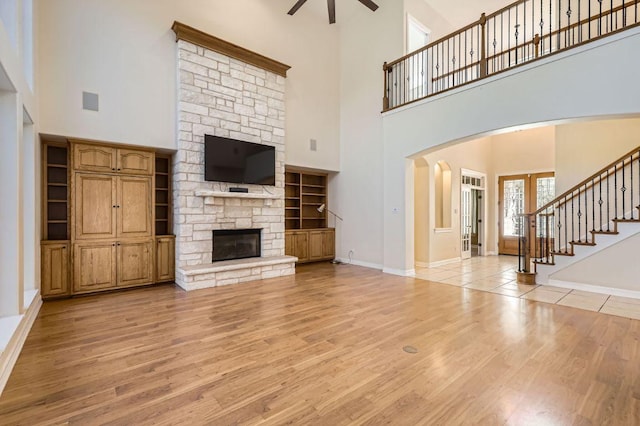
POLYGON ((285 232, 285 254, 296 256, 298 263, 335 258, 335 229, 309 229, 285 232))

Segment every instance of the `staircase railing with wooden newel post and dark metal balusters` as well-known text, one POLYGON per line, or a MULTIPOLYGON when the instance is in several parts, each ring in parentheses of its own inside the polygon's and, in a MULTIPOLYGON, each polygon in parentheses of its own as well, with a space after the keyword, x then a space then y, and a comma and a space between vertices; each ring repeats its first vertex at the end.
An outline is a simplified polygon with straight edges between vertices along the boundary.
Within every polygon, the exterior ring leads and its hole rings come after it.
POLYGON ((619 222, 639 221, 640 147, 521 220, 520 272, 573 256, 576 245, 595 245, 595 235, 617 233, 619 222))

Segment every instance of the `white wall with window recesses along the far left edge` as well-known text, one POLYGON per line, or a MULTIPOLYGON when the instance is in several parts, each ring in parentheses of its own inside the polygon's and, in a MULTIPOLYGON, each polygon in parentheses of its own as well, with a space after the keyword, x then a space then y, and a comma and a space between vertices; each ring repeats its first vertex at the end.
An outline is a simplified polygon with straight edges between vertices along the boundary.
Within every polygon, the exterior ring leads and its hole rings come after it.
POLYGON ((40 306, 40 170, 32 124, 38 111, 29 74, 34 34, 25 22, 30 7, 30 0, 0 2, 0 393, 40 306))

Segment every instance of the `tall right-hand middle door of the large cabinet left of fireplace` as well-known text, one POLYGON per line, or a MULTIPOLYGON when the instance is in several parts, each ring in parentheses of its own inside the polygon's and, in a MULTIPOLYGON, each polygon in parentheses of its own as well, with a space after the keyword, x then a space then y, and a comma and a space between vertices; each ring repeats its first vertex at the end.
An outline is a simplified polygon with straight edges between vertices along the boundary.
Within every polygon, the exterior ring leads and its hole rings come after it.
POLYGON ((151 237, 151 178, 120 176, 118 186, 118 238, 151 237))

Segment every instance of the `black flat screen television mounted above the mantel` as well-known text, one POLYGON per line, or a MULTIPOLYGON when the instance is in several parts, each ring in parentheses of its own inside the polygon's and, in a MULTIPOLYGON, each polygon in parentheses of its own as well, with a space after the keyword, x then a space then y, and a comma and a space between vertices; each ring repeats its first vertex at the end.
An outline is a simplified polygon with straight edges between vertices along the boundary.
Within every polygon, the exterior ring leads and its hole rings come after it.
POLYGON ((204 135, 204 180, 275 185, 276 149, 269 145, 204 135))

